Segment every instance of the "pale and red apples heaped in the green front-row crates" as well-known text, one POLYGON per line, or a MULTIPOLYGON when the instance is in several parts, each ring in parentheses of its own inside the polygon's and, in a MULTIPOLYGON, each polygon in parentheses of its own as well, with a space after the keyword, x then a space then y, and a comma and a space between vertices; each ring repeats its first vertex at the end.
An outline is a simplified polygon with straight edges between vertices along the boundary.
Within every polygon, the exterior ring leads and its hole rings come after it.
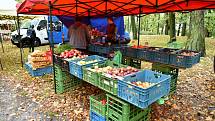
POLYGON ((115 77, 115 76, 123 77, 123 76, 126 76, 128 74, 136 73, 139 70, 136 69, 136 68, 130 67, 130 66, 122 67, 122 68, 114 68, 114 67, 111 67, 111 66, 107 66, 107 67, 104 67, 104 68, 98 68, 97 66, 95 66, 94 71, 95 72, 107 73, 107 74, 109 74, 109 75, 111 75, 113 77, 115 77))

